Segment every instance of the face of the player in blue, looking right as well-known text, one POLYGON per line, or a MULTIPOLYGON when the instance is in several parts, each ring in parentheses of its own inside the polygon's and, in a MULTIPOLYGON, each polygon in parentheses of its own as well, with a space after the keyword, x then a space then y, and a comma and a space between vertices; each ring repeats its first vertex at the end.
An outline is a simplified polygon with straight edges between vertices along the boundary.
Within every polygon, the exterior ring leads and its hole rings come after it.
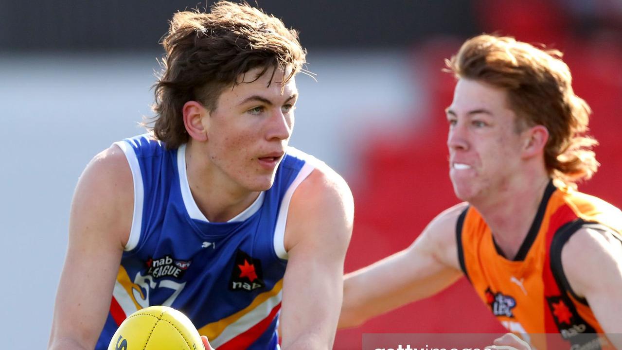
POLYGON ((298 96, 294 78, 281 92, 284 71, 276 70, 272 78, 270 68, 254 80, 261 70, 250 70, 243 83, 225 88, 215 111, 202 121, 212 168, 249 191, 268 190, 274 183, 292 135, 298 96))

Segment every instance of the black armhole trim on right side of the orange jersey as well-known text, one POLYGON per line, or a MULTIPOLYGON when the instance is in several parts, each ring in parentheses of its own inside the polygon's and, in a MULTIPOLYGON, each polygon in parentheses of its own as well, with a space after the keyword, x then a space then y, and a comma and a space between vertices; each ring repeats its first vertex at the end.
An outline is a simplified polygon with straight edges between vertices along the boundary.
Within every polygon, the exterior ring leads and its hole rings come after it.
POLYGON ((570 237, 582 228, 591 228, 598 231, 609 232, 613 235, 613 237, 620 240, 621 243, 622 239, 617 234, 613 234, 611 228, 608 228, 608 226, 600 223, 592 223, 578 218, 560 227, 555 233, 553 241, 550 243, 550 270, 553 272, 553 277, 555 277, 555 282, 557 282, 560 292, 562 292, 562 295, 565 295, 565 292, 569 292, 570 295, 577 300, 577 302, 589 306, 585 298, 579 297, 577 293, 572 290, 572 287, 570 287, 570 283, 568 283, 568 279, 566 279, 566 275, 564 274, 564 268, 562 267, 562 248, 564 248, 564 245, 568 242, 570 237))

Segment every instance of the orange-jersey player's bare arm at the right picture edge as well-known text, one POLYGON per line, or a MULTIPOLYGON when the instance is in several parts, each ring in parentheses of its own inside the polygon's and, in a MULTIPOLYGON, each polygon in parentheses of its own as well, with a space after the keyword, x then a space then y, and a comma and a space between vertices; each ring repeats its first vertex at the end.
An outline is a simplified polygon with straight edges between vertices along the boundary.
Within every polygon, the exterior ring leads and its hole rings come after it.
MULTIPOLYGON (((583 228, 562 248, 562 267, 572 290, 584 297, 608 334, 622 333, 622 245, 611 233, 583 228)), ((622 339, 610 339, 622 349, 622 339)))

